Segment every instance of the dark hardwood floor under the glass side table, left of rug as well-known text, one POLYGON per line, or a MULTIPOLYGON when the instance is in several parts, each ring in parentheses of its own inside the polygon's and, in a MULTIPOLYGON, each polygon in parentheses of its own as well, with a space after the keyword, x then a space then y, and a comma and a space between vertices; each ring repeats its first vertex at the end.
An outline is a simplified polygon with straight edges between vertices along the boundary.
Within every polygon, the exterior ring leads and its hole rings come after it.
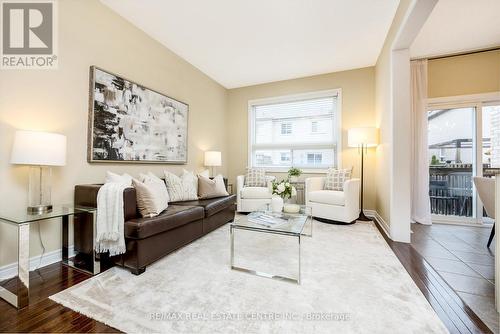
POLYGON ((28 307, 18 311, 0 299, 0 332, 118 332, 48 298, 89 277, 89 274, 68 268, 61 263, 31 272, 28 307))

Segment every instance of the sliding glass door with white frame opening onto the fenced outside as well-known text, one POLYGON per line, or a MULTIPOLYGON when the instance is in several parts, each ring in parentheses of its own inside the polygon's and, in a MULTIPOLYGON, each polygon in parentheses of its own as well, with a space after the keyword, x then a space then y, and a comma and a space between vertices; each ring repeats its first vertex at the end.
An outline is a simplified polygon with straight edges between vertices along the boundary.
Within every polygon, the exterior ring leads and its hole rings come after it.
POLYGON ((473 177, 500 173, 500 102, 431 106, 428 145, 433 220, 490 223, 473 177))

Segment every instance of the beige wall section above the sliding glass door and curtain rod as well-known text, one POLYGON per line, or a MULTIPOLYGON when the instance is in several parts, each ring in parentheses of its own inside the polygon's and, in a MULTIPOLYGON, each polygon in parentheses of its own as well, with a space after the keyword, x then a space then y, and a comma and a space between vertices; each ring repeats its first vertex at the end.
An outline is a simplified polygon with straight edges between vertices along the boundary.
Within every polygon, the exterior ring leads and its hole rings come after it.
POLYGON ((469 95, 500 91, 500 50, 429 60, 428 95, 469 95))

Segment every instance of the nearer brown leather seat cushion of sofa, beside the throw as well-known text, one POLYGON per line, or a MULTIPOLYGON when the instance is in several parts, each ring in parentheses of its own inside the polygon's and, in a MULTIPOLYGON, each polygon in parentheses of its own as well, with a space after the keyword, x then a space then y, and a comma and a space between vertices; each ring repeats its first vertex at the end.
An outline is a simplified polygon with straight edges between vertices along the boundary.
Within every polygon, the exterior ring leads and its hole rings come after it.
POLYGON ((136 218, 125 222, 125 237, 144 239, 176 227, 203 219, 202 207, 169 205, 167 210, 152 218, 136 218))

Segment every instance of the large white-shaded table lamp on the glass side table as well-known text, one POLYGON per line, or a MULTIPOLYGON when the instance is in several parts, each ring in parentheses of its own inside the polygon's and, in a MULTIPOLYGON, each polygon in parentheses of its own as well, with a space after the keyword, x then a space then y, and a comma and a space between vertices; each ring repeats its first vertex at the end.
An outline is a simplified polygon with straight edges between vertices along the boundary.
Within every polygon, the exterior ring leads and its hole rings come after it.
POLYGON ((52 166, 66 165, 66 137, 56 133, 16 131, 11 164, 28 165, 28 212, 41 214, 52 210, 52 166))

